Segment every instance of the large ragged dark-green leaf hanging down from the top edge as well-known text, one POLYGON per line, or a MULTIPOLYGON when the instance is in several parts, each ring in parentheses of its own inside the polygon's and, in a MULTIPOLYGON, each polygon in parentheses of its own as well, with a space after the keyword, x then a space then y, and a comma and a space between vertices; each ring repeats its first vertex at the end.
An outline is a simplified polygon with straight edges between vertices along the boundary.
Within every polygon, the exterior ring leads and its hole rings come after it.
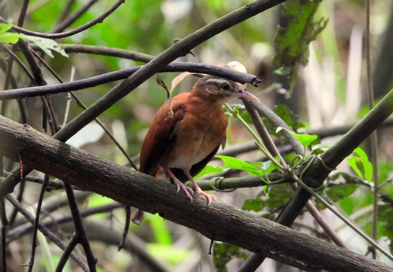
POLYGON ((275 45, 277 55, 273 63, 281 66, 289 76, 289 93, 292 93, 297 77, 297 65, 306 65, 309 57, 309 43, 315 40, 327 25, 323 18, 314 22, 314 14, 321 0, 291 0, 283 4, 282 15, 289 22, 286 28, 277 29, 275 45))

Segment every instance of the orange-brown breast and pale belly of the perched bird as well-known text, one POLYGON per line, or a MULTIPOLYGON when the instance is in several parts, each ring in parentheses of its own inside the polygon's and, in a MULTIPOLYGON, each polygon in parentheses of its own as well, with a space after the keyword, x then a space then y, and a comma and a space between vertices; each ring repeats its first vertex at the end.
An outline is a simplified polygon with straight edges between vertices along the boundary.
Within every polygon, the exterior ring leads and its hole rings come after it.
POLYGON ((170 168, 190 169, 225 140, 227 118, 221 107, 189 108, 175 127, 173 148, 163 159, 170 168))

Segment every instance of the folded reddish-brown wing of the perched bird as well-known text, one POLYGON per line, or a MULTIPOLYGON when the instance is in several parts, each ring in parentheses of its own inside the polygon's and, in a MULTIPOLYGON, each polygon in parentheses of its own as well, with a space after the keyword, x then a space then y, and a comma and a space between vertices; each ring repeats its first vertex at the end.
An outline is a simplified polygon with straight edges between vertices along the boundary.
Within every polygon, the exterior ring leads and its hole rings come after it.
POLYGON ((183 93, 172 99, 171 118, 168 117, 169 101, 158 110, 140 150, 140 172, 149 175, 156 173, 163 157, 175 142, 174 128, 183 119, 186 107, 181 101, 186 101, 189 95, 190 93, 183 93))

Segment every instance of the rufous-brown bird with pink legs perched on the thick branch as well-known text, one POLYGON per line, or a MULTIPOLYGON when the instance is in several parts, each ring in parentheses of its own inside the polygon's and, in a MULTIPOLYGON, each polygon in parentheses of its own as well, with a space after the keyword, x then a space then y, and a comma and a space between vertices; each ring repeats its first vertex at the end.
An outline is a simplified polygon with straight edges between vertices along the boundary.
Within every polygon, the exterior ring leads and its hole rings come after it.
POLYGON ((172 117, 169 117, 169 101, 158 110, 144 138, 140 151, 139 171, 157 175, 160 167, 171 177, 186 196, 193 200, 193 190, 183 182, 190 180, 197 195, 210 204, 213 195, 204 193, 193 176, 225 145, 228 120, 223 103, 231 97, 257 100, 255 96, 231 80, 206 75, 200 78, 190 93, 182 93, 171 99, 172 117))

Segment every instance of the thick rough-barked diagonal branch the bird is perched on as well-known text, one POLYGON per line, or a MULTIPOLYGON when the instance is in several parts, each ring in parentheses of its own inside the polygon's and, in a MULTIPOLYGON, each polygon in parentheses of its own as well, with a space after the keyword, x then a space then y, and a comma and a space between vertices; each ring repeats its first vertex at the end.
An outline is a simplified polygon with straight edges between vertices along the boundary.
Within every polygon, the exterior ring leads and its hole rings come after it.
POLYGON ((72 148, 0 116, 0 153, 125 205, 197 230, 223 241, 304 270, 392 271, 363 255, 254 216, 220 201, 206 206, 176 195, 175 186, 72 148))

